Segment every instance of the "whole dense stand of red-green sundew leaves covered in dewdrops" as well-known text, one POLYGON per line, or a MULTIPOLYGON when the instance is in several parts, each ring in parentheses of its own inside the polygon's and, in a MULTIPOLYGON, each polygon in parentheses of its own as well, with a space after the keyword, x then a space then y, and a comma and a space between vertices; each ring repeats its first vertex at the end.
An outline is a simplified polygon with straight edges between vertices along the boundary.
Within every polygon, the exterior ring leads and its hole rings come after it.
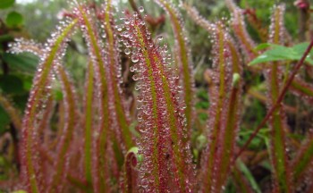
POLYGON ((229 15, 210 21, 188 1, 68 2, 46 43, 15 38, 8 46, 39 62, 23 113, 0 88, 12 122, 0 135, 1 189, 312 191, 309 2, 293 5, 306 20, 301 38, 285 29, 283 3, 268 7, 266 25, 233 0, 223 1, 229 15), (200 80, 187 22, 209 37, 201 39, 210 59, 200 80), (82 86, 75 63, 65 62, 73 38, 86 47, 82 86))

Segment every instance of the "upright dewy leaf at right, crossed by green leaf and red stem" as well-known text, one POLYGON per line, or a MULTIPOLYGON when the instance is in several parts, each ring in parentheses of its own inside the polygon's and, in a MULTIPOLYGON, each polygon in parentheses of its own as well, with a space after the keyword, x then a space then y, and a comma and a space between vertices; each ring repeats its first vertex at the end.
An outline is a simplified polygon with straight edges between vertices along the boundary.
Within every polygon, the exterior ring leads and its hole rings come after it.
MULTIPOLYGON (((283 44, 283 4, 275 5, 271 18, 270 38, 272 44, 283 44)), ((279 47, 278 49, 280 49, 279 47)), ((278 63, 271 63, 270 71, 265 71, 266 81, 268 82, 267 95, 270 100, 266 100, 268 109, 275 105, 277 101, 282 81, 280 78, 281 68, 278 63)), ((270 155, 274 169, 274 187, 278 192, 292 192, 292 174, 290 172, 290 163, 286 151, 286 130, 287 123, 283 107, 279 106, 275 109, 272 117, 268 122, 271 130, 270 138, 270 155)))

